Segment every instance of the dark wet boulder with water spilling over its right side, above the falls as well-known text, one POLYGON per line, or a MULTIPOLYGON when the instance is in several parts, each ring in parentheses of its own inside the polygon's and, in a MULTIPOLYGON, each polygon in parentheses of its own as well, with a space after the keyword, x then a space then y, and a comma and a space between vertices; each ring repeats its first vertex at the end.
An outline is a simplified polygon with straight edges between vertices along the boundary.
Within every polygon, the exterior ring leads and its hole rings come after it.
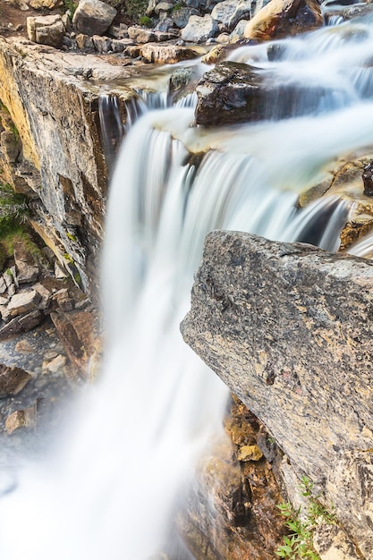
MULTIPOLYGON (((216 55, 231 47, 217 46, 216 55)), ((213 62, 211 55, 204 60, 213 62)), ((196 92, 196 123, 207 126, 307 115, 336 95, 335 89, 291 82, 272 70, 231 61, 206 72, 196 92)))

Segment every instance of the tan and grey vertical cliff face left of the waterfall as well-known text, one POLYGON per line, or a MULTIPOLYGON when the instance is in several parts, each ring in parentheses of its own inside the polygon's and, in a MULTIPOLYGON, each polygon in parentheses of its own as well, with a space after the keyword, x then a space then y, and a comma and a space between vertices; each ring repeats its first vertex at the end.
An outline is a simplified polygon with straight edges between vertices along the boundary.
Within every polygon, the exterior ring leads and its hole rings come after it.
MULTIPOLYGON (((95 56, 46 49, 0 38, 2 180, 32 199, 34 229, 93 293, 107 188, 99 80, 125 71, 95 56)), ((131 95, 123 89, 119 105, 131 95)))

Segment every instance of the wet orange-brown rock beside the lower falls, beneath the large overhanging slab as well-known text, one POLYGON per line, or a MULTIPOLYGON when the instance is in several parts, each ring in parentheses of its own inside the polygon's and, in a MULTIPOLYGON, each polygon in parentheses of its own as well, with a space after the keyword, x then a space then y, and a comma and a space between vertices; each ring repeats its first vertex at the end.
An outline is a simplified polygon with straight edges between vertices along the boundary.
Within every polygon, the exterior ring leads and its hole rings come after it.
MULTIPOLYGON (((236 400, 225 418, 230 437, 255 441, 255 417, 236 400)), ((266 461, 237 462, 236 445, 222 437, 199 462, 197 476, 177 515, 177 526, 196 560, 273 560, 283 535, 276 505, 283 498, 266 461)))

